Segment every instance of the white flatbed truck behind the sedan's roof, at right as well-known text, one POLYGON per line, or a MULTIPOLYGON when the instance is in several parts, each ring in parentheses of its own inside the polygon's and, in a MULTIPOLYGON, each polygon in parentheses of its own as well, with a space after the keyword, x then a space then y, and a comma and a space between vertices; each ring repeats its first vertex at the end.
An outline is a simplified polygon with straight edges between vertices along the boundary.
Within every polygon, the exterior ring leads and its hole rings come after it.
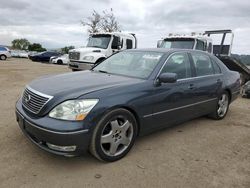
POLYGON ((202 50, 217 56, 230 70, 241 75, 241 84, 250 80, 250 69, 231 56, 234 33, 232 30, 212 30, 190 35, 172 34, 157 41, 158 48, 202 50), (216 39, 217 43, 215 42, 216 39))

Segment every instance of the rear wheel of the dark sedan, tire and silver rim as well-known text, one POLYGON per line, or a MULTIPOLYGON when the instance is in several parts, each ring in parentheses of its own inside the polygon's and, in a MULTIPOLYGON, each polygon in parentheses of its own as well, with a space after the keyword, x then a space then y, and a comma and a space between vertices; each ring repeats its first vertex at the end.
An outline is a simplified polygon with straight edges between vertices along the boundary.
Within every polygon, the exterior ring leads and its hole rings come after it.
POLYGON ((224 91, 217 100, 217 105, 212 114, 209 115, 212 119, 221 120, 226 117, 229 109, 230 97, 228 92, 224 91))

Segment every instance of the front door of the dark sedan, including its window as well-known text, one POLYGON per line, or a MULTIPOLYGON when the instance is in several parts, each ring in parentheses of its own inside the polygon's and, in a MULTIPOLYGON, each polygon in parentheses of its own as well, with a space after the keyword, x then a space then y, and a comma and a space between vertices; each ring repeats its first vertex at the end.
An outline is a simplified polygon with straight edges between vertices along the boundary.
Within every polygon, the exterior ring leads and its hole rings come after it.
POLYGON ((192 83, 192 66, 186 52, 170 55, 160 70, 162 73, 176 73, 177 82, 161 83, 155 87, 153 118, 155 127, 165 127, 177 124, 193 117, 195 96, 192 83))

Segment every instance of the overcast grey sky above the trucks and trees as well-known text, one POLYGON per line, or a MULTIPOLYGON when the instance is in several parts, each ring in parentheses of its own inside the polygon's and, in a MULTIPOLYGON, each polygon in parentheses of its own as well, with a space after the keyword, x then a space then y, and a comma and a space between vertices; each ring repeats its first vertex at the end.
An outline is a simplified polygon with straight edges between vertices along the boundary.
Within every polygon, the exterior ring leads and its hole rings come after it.
POLYGON ((84 46, 87 29, 80 20, 110 8, 140 48, 155 47, 170 32, 233 29, 233 53, 250 54, 249 0, 0 0, 0 44, 27 38, 46 48, 84 46))

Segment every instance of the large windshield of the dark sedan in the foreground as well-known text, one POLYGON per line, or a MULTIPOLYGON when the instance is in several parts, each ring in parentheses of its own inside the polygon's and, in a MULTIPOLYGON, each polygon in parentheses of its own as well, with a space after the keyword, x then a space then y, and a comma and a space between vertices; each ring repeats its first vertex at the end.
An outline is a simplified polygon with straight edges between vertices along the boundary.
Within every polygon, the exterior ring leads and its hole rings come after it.
POLYGON ((124 51, 109 57, 93 71, 146 79, 162 55, 160 52, 124 51))

